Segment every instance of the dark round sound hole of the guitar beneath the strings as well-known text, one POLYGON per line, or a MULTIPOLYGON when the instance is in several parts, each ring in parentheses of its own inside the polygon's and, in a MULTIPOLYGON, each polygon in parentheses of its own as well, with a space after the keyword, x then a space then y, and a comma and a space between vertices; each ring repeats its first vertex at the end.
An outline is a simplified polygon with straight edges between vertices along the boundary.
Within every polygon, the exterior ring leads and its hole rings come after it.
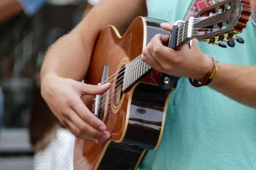
POLYGON ((123 78, 125 74, 125 67, 122 67, 122 69, 118 73, 118 77, 116 79, 116 85, 115 85, 115 94, 114 94, 114 101, 115 105, 118 105, 121 98, 122 98, 122 85, 123 85, 123 78))

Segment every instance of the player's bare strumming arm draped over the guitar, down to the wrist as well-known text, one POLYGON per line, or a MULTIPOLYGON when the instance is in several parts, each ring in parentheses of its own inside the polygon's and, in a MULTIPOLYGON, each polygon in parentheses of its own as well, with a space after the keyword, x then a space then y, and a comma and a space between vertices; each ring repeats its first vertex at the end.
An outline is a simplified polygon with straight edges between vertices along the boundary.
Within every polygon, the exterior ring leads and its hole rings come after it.
POLYGON ((76 28, 49 48, 41 68, 41 81, 49 73, 80 81, 86 75, 101 29, 114 25, 119 31, 124 30, 135 17, 145 16, 146 12, 144 0, 101 1, 76 28))

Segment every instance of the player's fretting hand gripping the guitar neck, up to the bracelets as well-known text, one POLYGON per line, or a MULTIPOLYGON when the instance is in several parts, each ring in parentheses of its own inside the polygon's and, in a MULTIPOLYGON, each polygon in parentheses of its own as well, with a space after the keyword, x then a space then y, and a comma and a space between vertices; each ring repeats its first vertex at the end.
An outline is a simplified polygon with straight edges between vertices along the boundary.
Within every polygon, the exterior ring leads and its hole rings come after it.
MULTIPOLYGON (((172 31, 172 23, 163 23, 161 28, 172 31)), ((157 34, 143 50, 141 59, 152 68, 176 77, 189 77, 196 80, 204 79, 209 72, 212 61, 200 50, 196 40, 192 41, 192 48, 188 45, 175 51, 163 44, 169 36, 157 34)))

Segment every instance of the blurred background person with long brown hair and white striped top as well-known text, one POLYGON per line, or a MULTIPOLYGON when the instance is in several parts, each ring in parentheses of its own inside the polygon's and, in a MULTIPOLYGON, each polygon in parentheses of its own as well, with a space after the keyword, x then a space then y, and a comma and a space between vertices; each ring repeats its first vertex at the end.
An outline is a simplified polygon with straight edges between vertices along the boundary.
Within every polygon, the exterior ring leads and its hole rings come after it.
MULTIPOLYGON (((78 0, 47 1, 53 5, 53 8, 78 2, 78 0)), ((90 6, 86 6, 84 11, 89 8, 90 6)), ((59 13, 61 12, 63 11, 59 13)), ((59 13, 55 14, 61 15, 59 13)), ((33 170, 73 170, 75 136, 61 125, 42 98, 40 90, 38 73, 33 78, 32 108, 29 116, 29 137, 35 153, 33 170)))

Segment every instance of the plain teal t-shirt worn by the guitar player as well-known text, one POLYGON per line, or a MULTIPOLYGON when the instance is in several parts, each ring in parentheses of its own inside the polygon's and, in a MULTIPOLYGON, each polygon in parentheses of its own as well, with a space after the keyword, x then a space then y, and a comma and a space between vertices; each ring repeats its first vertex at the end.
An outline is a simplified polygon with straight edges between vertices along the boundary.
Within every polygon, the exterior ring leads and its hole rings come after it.
MULTIPOLYGON (((148 0, 148 16, 182 20, 190 0, 148 0)), ((234 48, 199 42, 219 62, 256 65, 256 26, 251 20, 234 48)), ((255 73, 256 74, 256 73, 255 73)), ((248 79, 247 81, 250 81, 248 79)), ((149 150, 140 170, 256 170, 256 110, 209 87, 194 88, 179 80, 169 100, 163 138, 149 150)))

